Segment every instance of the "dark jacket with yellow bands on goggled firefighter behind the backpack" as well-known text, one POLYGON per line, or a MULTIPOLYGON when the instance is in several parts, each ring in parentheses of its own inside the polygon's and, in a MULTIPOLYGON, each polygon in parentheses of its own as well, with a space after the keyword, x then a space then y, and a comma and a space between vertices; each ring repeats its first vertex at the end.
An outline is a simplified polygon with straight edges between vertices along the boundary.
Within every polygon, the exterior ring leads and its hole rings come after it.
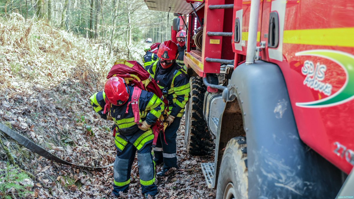
POLYGON ((187 74, 176 62, 171 67, 164 69, 159 61, 151 65, 148 72, 169 101, 169 114, 182 117, 185 104, 190 97, 187 74))

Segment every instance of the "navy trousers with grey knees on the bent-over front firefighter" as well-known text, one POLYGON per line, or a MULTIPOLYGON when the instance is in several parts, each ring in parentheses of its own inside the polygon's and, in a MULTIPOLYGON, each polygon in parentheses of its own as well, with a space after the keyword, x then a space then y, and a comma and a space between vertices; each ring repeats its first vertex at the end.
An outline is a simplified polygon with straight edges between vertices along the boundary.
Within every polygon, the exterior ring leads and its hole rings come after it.
MULTIPOLYGON (((146 144, 138 150, 138 167, 141 192, 145 195, 156 195, 155 163, 151 154, 152 143, 146 144)), ((117 150, 117 156, 113 165, 114 184, 113 193, 119 196, 119 192, 125 192, 129 188, 130 173, 137 149, 128 142, 124 150, 117 150)))

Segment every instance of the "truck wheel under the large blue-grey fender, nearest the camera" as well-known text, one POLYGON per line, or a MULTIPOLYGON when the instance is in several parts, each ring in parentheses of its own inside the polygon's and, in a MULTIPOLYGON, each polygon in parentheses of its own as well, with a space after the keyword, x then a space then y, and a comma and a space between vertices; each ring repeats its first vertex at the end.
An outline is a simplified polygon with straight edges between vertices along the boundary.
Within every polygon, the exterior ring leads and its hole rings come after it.
POLYGON ((246 137, 227 143, 219 172, 216 199, 248 199, 246 137))

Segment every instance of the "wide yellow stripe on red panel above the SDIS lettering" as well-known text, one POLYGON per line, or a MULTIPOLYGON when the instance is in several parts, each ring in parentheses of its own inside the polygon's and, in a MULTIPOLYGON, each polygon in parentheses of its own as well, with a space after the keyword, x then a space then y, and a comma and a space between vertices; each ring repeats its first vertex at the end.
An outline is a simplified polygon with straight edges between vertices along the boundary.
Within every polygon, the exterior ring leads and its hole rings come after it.
MULTIPOLYGON (((353 28, 284 30, 284 44, 354 47, 353 28)), ((243 39, 243 34, 242 34, 243 39)))

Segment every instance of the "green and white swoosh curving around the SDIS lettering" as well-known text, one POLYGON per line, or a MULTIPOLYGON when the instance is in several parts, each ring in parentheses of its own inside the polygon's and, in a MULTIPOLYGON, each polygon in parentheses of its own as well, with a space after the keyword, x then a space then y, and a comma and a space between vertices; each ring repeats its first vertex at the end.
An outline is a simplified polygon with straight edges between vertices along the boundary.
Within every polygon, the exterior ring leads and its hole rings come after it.
POLYGON ((323 108, 337 106, 354 98, 354 56, 352 54, 335 50, 309 50, 295 53, 296 56, 309 55, 323 57, 336 62, 346 72, 346 82, 333 95, 312 102, 297 102, 296 106, 307 108, 323 108))

